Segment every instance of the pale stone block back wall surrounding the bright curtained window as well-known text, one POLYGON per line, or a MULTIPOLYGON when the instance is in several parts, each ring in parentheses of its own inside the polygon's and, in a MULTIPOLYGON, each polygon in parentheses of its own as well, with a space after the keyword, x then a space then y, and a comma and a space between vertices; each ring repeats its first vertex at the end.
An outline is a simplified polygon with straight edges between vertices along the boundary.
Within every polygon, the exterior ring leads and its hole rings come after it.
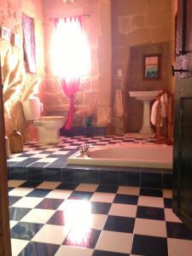
POLYGON ((44 106, 48 114, 67 116, 68 98, 61 90, 59 78, 55 77, 51 64, 51 38, 55 29, 55 17, 88 14, 82 18, 91 55, 90 74, 81 78, 79 91, 75 95, 73 125, 84 125, 84 112, 91 109, 93 125, 108 125, 111 109, 111 9, 110 1, 77 0, 62 3, 60 0, 43 0, 44 3, 44 47, 45 70, 44 106))

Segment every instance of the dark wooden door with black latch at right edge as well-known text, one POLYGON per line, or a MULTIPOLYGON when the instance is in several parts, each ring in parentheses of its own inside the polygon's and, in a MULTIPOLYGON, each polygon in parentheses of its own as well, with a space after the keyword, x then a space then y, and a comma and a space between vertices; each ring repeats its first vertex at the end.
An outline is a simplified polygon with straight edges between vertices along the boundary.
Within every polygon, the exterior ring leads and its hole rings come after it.
POLYGON ((177 4, 172 207, 192 230, 192 1, 177 4))

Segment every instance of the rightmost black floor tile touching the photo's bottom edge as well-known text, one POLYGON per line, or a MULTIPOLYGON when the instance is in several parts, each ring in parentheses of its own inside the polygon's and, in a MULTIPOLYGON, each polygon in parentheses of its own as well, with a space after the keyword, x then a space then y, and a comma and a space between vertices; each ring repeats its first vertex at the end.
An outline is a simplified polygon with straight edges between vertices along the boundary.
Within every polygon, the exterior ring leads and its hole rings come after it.
POLYGON ((168 256, 166 238, 134 235, 131 253, 145 256, 168 256))

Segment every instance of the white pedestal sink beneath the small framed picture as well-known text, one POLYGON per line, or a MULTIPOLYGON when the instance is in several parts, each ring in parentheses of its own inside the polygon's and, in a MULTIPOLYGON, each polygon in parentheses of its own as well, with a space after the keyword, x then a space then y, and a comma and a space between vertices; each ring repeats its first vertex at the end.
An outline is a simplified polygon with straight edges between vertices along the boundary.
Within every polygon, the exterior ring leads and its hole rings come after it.
POLYGON ((161 90, 143 90, 130 91, 130 96, 135 97, 136 101, 143 102, 143 125, 140 133, 153 133, 150 121, 150 102, 155 100, 155 97, 161 90))

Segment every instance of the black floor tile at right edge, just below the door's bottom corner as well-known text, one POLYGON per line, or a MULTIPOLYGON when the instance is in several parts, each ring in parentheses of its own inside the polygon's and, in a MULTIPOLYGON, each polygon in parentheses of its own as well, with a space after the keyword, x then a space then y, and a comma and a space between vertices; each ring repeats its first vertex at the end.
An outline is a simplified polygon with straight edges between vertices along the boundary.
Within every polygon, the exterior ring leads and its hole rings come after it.
POLYGON ((166 222, 167 237, 192 240, 192 231, 183 223, 166 222))

